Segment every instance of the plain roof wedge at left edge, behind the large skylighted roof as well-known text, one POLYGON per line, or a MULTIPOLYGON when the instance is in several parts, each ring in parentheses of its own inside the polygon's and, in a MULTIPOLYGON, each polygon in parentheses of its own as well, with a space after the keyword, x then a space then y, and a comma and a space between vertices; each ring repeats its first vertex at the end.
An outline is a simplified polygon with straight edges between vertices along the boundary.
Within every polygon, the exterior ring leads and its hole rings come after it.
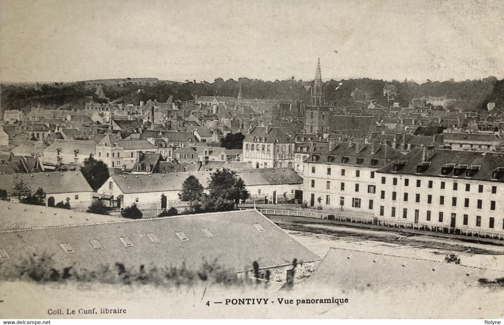
POLYGON ((74 210, 0 201, 0 231, 91 224, 117 220, 116 217, 74 210))

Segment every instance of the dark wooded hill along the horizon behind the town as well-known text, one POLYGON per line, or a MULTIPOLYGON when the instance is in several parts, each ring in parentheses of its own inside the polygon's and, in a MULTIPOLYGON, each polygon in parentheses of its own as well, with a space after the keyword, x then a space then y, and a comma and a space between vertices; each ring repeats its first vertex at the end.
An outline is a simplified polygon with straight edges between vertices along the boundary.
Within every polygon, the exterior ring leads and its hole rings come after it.
MULTIPOLYGON (((362 105, 366 101, 376 100, 387 105, 383 88, 387 82, 372 79, 331 80, 325 83, 325 94, 328 103, 338 98, 354 98, 362 105), (341 85, 339 85, 341 83, 341 85)), ((495 77, 483 80, 466 80, 461 82, 426 82, 417 84, 413 81, 392 81, 397 87, 395 101, 407 106, 412 98, 422 96, 446 96, 458 100, 457 106, 464 110, 486 109, 486 103, 494 101, 496 107, 504 108, 504 80, 495 77)), ((41 106, 52 109, 83 108, 84 103, 93 96, 95 102, 103 102, 94 93, 101 84, 103 91, 111 101, 117 103, 139 104, 140 101, 157 99, 165 102, 170 95, 174 100, 193 100, 198 96, 238 96, 241 85, 243 98, 248 99, 284 99, 309 100, 309 82, 302 80, 263 81, 258 79, 239 78, 224 81, 217 78, 214 82, 188 81, 185 83, 159 81, 155 78, 143 79, 109 79, 105 81, 86 81, 74 83, 46 83, 38 87, 35 84, 2 84, 1 102, 3 109, 22 109, 28 112, 31 107, 41 106), (35 90, 35 88, 38 88, 35 90), (139 89, 143 89, 138 92, 139 89)))

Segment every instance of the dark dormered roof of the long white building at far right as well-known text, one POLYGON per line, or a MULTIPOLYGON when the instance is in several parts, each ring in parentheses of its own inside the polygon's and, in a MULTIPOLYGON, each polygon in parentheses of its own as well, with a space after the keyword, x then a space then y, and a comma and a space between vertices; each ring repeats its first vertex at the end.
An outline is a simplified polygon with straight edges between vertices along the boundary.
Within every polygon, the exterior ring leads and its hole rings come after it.
MULTIPOLYGON (((422 162, 420 148, 407 153, 401 158, 401 161, 406 161, 406 164, 398 171, 401 174, 504 182, 504 153, 434 149, 433 155, 427 160, 430 164, 425 166, 425 170, 420 173, 417 173, 417 165, 422 162), (463 172, 460 176, 455 176, 455 168, 446 175, 442 175, 441 167, 446 164, 455 164, 455 166, 460 164, 467 165, 467 167, 479 166, 479 169, 472 177, 466 177, 466 172, 463 172), (501 176, 493 178, 492 172, 498 167, 502 168, 501 176)), ((380 173, 392 173, 393 171, 394 163, 377 170, 380 173)))

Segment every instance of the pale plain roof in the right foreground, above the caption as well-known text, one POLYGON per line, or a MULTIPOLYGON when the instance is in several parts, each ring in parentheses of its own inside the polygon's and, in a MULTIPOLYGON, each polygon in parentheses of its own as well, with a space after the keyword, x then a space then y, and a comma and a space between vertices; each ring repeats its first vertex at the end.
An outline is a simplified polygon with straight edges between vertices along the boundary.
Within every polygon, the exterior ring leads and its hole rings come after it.
POLYGON ((477 285, 479 278, 496 279, 504 272, 380 254, 358 250, 330 248, 304 287, 328 290, 389 289, 424 284, 446 288, 456 283, 477 285))

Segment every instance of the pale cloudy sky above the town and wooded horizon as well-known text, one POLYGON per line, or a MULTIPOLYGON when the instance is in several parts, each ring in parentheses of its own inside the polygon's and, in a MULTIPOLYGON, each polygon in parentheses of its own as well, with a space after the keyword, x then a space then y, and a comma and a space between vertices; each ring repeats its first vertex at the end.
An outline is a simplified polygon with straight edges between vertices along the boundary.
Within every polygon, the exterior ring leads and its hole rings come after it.
POLYGON ((2 0, 0 81, 504 79, 501 0, 2 0))

